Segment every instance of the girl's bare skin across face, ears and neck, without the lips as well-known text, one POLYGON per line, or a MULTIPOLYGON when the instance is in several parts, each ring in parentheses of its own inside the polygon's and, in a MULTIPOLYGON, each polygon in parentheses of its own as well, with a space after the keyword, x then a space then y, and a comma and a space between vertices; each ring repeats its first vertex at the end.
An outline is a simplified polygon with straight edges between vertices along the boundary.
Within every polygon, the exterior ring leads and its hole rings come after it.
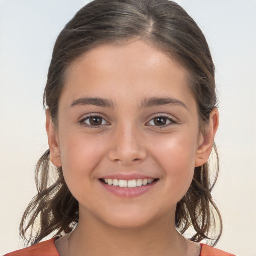
POLYGON ((46 110, 51 161, 62 166, 79 202, 79 224, 69 239, 69 255, 187 253, 175 229, 176 204, 191 184, 194 167, 208 160, 218 127, 217 109, 203 133, 198 124, 187 70, 148 42, 102 44, 71 63, 57 123, 46 110), (81 104, 84 97, 111 104, 81 104), (142 106, 155 97, 179 103, 142 106), (103 117, 102 124, 92 126, 91 115, 103 117), (154 122, 159 116, 165 125, 154 122), (124 198, 108 192, 100 181, 120 173, 158 180, 146 193, 124 198))

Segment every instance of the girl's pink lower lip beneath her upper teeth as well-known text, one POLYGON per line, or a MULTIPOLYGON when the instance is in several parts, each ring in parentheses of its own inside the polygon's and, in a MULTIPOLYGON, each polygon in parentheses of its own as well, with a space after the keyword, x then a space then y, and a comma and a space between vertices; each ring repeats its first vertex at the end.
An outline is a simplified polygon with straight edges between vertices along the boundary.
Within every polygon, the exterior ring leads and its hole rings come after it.
POLYGON ((133 198, 148 192, 157 183, 157 181, 158 180, 155 180, 151 184, 148 184, 145 186, 142 185, 142 186, 131 187, 131 188, 107 185, 102 181, 100 181, 100 183, 107 191, 109 191, 110 193, 116 196, 133 198))

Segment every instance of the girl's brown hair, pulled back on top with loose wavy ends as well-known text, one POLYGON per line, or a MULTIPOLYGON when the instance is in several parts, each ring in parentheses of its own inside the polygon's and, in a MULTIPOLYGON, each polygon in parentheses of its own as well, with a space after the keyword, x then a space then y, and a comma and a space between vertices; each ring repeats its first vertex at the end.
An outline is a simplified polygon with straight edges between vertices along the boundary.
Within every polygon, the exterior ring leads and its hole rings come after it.
MULTIPOLYGON (((69 64, 100 43, 134 37, 153 43, 186 67, 203 127, 216 107, 214 64, 200 28, 178 4, 168 0, 95 0, 76 13, 60 32, 49 66, 44 106, 49 108, 53 122, 57 123, 58 101, 69 64)), ((214 150, 217 156, 215 145, 214 150)), ((20 224, 20 235, 32 244, 52 232, 70 232, 79 220, 78 202, 65 183, 62 168, 50 165, 48 156, 49 150, 36 165, 38 194, 28 205, 20 224), (54 182, 50 182, 52 176, 54 182), (33 235, 37 220, 39 228, 33 235)), ((221 216, 211 196, 217 175, 218 158, 212 181, 208 163, 195 167, 190 188, 177 203, 176 227, 180 233, 192 227, 195 231, 192 241, 206 238, 216 244, 221 235, 221 216), (215 233, 209 237, 213 229, 215 233)))

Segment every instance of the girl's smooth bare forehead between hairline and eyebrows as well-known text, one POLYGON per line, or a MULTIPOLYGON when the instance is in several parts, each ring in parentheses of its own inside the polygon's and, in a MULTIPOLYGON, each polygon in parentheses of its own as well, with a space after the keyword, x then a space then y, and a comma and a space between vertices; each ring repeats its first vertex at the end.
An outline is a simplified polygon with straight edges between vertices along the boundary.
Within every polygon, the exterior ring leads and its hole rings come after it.
POLYGON ((119 98, 133 94, 134 100, 139 93, 183 100, 191 97, 188 71, 144 40, 104 43, 90 49, 70 64, 65 80, 64 92, 68 90, 69 97, 100 93, 104 97, 117 93, 119 98))

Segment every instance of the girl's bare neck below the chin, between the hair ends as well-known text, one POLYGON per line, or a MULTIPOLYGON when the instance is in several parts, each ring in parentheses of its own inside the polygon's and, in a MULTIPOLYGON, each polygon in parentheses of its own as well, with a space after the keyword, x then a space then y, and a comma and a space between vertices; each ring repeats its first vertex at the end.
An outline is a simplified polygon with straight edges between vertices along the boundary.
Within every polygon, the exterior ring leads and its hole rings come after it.
POLYGON ((69 238, 69 256, 185 255, 187 244, 176 231, 173 217, 166 215, 143 227, 116 228, 80 216, 69 238))

